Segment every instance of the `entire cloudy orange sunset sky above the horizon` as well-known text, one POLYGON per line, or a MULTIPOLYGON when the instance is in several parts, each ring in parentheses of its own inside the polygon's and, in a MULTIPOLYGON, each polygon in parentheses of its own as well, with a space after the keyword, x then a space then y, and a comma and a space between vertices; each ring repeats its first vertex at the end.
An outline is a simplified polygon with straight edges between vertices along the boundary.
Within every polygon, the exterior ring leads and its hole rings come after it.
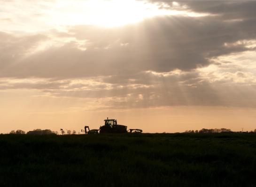
POLYGON ((0 4, 1 133, 256 129, 256 1, 0 4))

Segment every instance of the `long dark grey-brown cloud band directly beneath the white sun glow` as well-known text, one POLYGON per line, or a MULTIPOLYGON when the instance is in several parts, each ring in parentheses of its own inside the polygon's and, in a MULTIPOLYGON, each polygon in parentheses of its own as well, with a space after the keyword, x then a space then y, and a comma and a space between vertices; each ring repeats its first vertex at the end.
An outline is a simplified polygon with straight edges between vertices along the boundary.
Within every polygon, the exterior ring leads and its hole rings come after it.
MULTIPOLYGON (((0 71, 0 76, 79 78, 142 71, 191 71, 209 65, 210 58, 248 50, 242 44, 227 47, 224 43, 255 39, 255 22, 221 22, 211 16, 163 16, 117 29, 73 27, 70 32, 75 42, 25 57, 0 71), (78 49, 79 41, 87 50, 78 49)), ((11 38, 14 45, 9 47, 6 41, 1 64, 9 64, 16 55, 20 57, 43 37, 47 36, 11 38)))

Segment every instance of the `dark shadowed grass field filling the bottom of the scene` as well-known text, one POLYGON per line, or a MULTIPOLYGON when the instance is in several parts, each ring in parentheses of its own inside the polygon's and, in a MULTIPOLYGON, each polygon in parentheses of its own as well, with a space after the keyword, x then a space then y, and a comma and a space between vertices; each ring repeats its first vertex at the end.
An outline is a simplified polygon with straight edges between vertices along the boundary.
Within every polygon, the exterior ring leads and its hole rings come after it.
POLYGON ((0 135, 0 186, 256 187, 256 134, 0 135))

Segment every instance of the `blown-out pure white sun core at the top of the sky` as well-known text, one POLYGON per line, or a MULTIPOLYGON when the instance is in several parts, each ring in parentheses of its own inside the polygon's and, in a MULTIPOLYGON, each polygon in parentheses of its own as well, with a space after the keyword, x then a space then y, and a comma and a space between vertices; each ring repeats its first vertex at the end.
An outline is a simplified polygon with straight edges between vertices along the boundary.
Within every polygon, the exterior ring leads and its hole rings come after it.
MULTIPOLYGON (((177 5, 178 6, 178 3, 177 5)), ((58 1, 52 10, 54 24, 89 24, 118 27, 140 22, 157 15, 203 16, 193 12, 161 9, 156 4, 137 0, 68 0, 58 1)))

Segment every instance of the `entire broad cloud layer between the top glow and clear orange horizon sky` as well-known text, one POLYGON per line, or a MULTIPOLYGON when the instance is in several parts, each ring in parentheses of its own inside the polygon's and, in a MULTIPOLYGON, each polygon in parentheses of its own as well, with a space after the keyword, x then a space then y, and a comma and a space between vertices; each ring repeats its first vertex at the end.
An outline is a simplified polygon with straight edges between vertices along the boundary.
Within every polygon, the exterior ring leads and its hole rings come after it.
POLYGON ((116 108, 255 107, 256 3, 151 2, 209 14, 155 16, 114 28, 0 32, 0 77, 8 79, 0 89, 39 89, 116 108))

